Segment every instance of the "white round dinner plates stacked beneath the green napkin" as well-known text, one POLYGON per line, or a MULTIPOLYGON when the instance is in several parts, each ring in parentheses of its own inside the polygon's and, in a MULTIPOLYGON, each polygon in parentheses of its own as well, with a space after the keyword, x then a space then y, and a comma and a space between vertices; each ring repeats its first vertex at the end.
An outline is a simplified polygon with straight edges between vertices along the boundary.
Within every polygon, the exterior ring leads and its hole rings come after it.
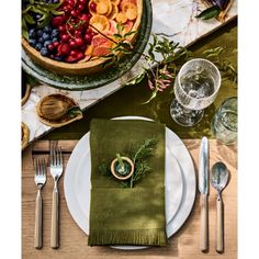
MULTIPOLYGON (((148 120, 138 116, 121 120, 148 120)), ((119 119, 119 120, 120 120, 119 119)), ((90 212, 90 144, 87 133, 76 145, 64 179, 68 210, 77 225, 89 234, 90 212)), ((195 173, 191 157, 181 139, 166 128, 166 218, 167 236, 173 235, 191 212, 195 198, 195 173)), ((144 246, 115 246, 117 249, 143 249, 144 246)))

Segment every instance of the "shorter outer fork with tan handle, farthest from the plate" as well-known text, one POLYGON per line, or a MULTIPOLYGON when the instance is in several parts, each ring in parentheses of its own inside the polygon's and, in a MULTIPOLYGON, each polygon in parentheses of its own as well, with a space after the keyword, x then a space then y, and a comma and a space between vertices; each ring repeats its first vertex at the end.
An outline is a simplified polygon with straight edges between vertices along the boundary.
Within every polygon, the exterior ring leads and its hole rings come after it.
POLYGON ((35 206, 35 229, 34 229, 34 247, 41 249, 43 246, 42 241, 42 225, 43 225, 43 200, 42 200, 42 189, 46 183, 46 162, 45 159, 36 159, 35 160, 35 177, 34 181, 37 187, 37 195, 36 195, 36 206, 35 206))

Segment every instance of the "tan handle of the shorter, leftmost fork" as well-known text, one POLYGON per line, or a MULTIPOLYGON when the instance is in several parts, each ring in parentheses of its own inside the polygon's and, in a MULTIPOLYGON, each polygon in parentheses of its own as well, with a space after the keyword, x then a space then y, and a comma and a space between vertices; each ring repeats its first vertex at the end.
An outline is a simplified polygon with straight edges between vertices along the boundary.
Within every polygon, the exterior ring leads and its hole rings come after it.
POLYGON ((35 206, 35 229, 34 229, 34 247, 37 249, 41 249, 43 246, 42 241, 42 209, 43 209, 43 201, 42 201, 42 195, 41 191, 37 191, 37 196, 36 196, 36 206, 35 206))

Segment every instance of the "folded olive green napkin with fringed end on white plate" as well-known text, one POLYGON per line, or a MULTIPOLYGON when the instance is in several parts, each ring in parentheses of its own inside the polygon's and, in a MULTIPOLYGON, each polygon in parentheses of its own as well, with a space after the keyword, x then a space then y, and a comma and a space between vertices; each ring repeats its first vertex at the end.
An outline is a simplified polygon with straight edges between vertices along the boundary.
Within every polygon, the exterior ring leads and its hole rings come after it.
POLYGON ((166 246, 165 126, 138 120, 93 120, 90 126, 91 203, 88 245, 166 246), (100 173, 99 166, 115 154, 139 148, 147 138, 158 140, 148 160, 151 171, 134 188, 100 173))

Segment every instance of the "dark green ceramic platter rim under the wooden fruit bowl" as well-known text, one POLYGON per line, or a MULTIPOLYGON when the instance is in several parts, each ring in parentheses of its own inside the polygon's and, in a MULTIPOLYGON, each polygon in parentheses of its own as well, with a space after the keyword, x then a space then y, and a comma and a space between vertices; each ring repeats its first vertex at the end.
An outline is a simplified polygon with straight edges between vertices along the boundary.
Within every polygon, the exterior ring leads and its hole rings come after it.
POLYGON ((25 72, 35 77, 38 81, 47 83, 54 88, 80 91, 102 87, 121 78, 137 63, 137 60, 140 58, 140 54, 144 52, 147 45, 151 30, 151 21, 153 11, 150 0, 144 0, 140 29, 134 46, 134 50, 137 53, 122 58, 122 66, 120 66, 120 68, 111 67, 105 69, 105 71, 87 76, 60 76, 34 64, 23 49, 22 67, 25 72))

